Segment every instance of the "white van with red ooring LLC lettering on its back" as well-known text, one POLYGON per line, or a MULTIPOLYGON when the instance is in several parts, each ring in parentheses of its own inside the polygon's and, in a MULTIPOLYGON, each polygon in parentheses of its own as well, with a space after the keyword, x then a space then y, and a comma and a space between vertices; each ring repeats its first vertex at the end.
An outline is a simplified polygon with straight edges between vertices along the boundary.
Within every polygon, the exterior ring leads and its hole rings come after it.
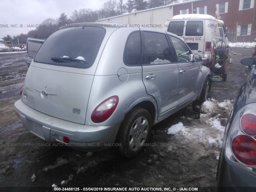
POLYGON ((204 14, 176 15, 166 21, 166 31, 174 33, 188 44, 193 54, 202 56, 202 64, 208 64, 211 49, 219 40, 228 46, 224 22, 204 14))

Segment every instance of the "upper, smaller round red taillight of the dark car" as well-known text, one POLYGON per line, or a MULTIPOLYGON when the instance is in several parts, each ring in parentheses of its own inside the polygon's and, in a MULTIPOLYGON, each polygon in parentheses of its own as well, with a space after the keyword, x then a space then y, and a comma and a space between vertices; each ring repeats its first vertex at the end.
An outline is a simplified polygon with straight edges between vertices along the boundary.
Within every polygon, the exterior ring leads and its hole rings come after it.
POLYGON ((244 133, 250 136, 256 136, 256 116, 253 114, 245 114, 241 118, 241 128, 244 133))

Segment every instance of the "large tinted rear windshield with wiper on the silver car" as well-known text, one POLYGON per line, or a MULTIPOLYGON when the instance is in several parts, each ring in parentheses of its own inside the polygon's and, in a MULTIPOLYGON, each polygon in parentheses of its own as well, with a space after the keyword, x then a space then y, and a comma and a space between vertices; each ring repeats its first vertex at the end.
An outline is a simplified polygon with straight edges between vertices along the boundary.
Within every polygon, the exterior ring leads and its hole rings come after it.
POLYGON ((34 62, 89 68, 94 63, 106 30, 100 27, 73 27, 58 30, 42 44, 34 62))

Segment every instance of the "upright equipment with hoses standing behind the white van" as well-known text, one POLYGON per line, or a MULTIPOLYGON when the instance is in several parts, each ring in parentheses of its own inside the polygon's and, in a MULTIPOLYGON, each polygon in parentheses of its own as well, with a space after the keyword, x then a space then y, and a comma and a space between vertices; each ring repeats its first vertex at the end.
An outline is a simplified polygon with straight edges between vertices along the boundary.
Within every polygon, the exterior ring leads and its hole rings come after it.
POLYGON ((222 82, 227 80, 228 70, 226 66, 231 64, 229 49, 223 40, 218 40, 211 50, 212 57, 206 67, 212 73, 212 82, 222 82))

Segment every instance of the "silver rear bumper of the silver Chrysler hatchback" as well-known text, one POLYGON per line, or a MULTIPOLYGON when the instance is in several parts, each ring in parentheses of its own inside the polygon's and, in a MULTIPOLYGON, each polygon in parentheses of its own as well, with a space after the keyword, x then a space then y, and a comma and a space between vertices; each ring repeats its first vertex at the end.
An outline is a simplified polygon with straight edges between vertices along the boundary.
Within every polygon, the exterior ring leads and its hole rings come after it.
POLYGON ((114 144, 120 123, 109 126, 88 126, 48 116, 18 100, 14 110, 26 129, 47 142, 60 142, 79 150, 98 151, 114 144), (69 138, 65 143, 63 137, 69 138))

